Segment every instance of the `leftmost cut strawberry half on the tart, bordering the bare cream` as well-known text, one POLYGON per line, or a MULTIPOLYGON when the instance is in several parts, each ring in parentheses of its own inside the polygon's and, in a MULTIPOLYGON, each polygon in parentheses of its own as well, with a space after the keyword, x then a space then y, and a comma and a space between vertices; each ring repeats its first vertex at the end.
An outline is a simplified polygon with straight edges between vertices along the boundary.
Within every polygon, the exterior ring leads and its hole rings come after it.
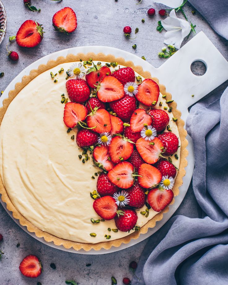
POLYGON ((84 121, 86 116, 87 110, 85 106, 73 102, 66 103, 63 121, 68 128, 73 129, 79 121, 84 121))

